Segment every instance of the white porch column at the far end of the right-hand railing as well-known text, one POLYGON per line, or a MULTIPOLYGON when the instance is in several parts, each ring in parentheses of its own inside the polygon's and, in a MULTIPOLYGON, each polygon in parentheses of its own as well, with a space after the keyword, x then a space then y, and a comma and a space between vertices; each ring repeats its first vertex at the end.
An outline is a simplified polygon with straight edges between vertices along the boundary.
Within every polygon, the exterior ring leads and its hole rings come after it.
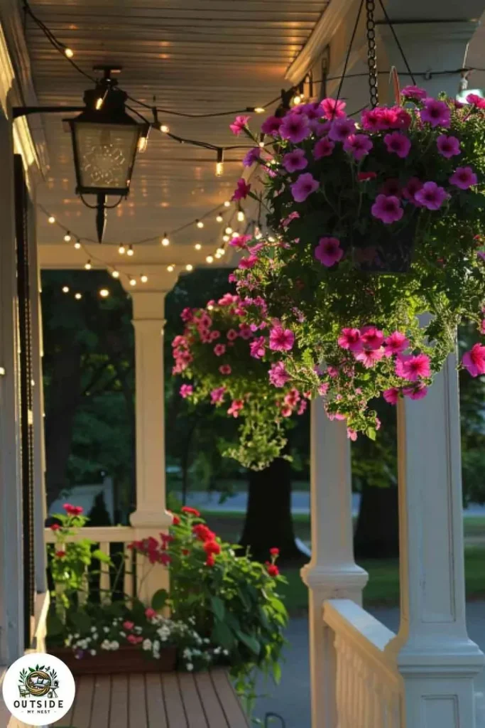
POLYGON ((334 634, 323 622, 326 599, 362 604, 368 575, 353 558, 350 443, 344 422, 330 422, 323 404, 311 404, 311 560, 308 586, 312 728, 337 728, 334 634))

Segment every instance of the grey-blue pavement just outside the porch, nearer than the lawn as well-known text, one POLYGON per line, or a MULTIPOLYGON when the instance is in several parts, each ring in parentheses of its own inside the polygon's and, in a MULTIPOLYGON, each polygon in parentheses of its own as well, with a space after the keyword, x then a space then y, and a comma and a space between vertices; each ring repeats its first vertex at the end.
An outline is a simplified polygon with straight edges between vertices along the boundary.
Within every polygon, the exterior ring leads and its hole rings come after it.
MULTIPOLYGON (((394 632, 398 629, 398 609, 371 609, 374 617, 394 632)), ((485 602, 470 602, 467 605, 468 633, 485 652, 485 602)), ((265 713, 278 713, 284 718, 286 728, 310 728, 310 673, 308 668, 308 622, 305 619, 291 620, 286 633, 289 646, 286 662, 282 666, 281 683, 277 688, 268 684, 270 697, 258 700, 256 715, 264 718, 265 713)), ((264 692, 260 685, 260 692, 264 692)), ((476 681, 477 726, 485 728, 485 672, 476 681)), ((278 721, 270 724, 280 728, 278 721)))

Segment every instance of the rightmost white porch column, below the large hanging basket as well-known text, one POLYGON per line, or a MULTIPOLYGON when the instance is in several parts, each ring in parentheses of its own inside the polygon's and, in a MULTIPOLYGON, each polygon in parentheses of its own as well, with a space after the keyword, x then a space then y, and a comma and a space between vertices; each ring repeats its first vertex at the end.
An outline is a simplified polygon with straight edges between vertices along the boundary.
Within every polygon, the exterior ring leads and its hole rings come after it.
POLYGON ((398 407, 403 728, 474 728, 484 655, 465 617, 460 410, 450 355, 424 400, 398 407))

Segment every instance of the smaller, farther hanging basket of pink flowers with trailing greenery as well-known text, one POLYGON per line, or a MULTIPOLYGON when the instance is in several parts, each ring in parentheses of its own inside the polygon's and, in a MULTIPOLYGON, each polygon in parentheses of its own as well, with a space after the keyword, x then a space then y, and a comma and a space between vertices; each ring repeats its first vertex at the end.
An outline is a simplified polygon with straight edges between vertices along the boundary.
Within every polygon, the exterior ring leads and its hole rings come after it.
MULTIPOLYGON (((234 238, 233 245, 245 248, 249 239, 234 238)), ((256 259, 254 250, 249 251, 248 260, 256 259)), ((231 293, 217 303, 209 301, 205 309, 185 309, 181 314, 185 330, 172 342, 172 372, 191 381, 180 387, 182 397, 195 405, 210 404, 241 421, 239 444, 225 443, 223 454, 244 467, 262 470, 280 456, 286 445, 284 430, 293 415, 305 412, 308 395, 286 385, 277 369, 268 379, 268 366, 276 361, 278 351, 292 347, 293 334, 281 329, 279 338, 267 340, 259 325, 247 322, 249 307, 265 317, 261 298, 243 300, 231 293), (281 388, 276 390, 271 381, 278 381, 281 388)))

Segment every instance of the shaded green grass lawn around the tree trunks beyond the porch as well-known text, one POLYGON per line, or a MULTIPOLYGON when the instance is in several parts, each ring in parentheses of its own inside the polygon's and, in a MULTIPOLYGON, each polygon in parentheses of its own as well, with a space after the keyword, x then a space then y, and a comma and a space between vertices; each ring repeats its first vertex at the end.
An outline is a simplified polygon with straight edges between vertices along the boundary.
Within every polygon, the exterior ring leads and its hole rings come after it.
MULTIPOLYGON (((237 543, 244 516, 241 513, 204 511, 204 517, 212 529, 223 539, 237 543)), ((310 540, 310 517, 297 513, 293 517, 298 538, 310 540)), ((465 537, 484 537, 484 545, 465 547, 465 578, 468 599, 485 598, 485 518, 464 518, 465 537)), ((398 606, 399 566, 397 559, 369 560, 360 563, 369 573, 369 583, 364 590, 364 606, 398 606)), ((281 592, 289 612, 297 614, 308 609, 308 592, 300 577, 300 569, 282 569, 288 580, 281 592)))

